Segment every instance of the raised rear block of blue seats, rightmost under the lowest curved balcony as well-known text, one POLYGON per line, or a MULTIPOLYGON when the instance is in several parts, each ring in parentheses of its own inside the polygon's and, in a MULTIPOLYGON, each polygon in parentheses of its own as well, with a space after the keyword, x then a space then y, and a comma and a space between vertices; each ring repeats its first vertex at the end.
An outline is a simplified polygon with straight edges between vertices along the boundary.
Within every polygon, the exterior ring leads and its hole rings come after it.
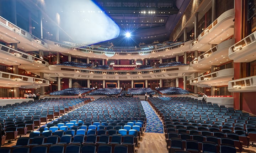
POLYGON ((191 93, 188 90, 184 90, 179 87, 156 87, 155 90, 164 95, 178 95, 191 93))

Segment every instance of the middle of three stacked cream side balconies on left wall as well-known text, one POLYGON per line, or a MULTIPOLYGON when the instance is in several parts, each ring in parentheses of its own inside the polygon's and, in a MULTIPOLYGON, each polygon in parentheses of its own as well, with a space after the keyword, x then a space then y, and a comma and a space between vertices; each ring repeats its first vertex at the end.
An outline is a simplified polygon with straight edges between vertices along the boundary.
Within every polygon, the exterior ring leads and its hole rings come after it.
POLYGON ((30 54, 17 51, 10 47, 0 44, 0 53, 3 64, 18 65, 19 68, 26 70, 40 69, 49 65, 47 61, 34 57, 30 54))

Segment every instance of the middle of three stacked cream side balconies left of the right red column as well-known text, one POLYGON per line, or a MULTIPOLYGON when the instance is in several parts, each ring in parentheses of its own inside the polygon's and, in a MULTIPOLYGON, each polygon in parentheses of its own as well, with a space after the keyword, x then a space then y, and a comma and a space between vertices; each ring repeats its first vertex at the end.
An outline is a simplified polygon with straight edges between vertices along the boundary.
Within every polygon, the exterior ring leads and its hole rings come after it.
POLYGON ((211 65, 220 65, 221 63, 230 61, 228 58, 228 49, 233 44, 234 39, 223 41, 191 61, 190 66, 194 67, 194 69, 209 69, 211 65))

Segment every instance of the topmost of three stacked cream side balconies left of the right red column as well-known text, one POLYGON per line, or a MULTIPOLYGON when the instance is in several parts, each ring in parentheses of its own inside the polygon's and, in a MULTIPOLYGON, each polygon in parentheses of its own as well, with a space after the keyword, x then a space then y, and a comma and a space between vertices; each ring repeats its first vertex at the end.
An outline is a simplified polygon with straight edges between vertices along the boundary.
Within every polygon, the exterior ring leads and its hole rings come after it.
POLYGON ((210 44, 219 44, 234 35, 234 18, 234 8, 222 13, 190 44, 190 49, 205 51, 211 47, 210 44))

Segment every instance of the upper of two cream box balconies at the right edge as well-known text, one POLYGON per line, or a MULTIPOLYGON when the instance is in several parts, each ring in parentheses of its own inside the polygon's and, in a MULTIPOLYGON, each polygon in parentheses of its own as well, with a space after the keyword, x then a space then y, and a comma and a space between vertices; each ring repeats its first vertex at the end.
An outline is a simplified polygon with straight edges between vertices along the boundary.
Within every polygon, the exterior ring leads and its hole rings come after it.
POLYGON ((256 59, 256 31, 229 48, 229 58, 234 62, 250 62, 256 59))

